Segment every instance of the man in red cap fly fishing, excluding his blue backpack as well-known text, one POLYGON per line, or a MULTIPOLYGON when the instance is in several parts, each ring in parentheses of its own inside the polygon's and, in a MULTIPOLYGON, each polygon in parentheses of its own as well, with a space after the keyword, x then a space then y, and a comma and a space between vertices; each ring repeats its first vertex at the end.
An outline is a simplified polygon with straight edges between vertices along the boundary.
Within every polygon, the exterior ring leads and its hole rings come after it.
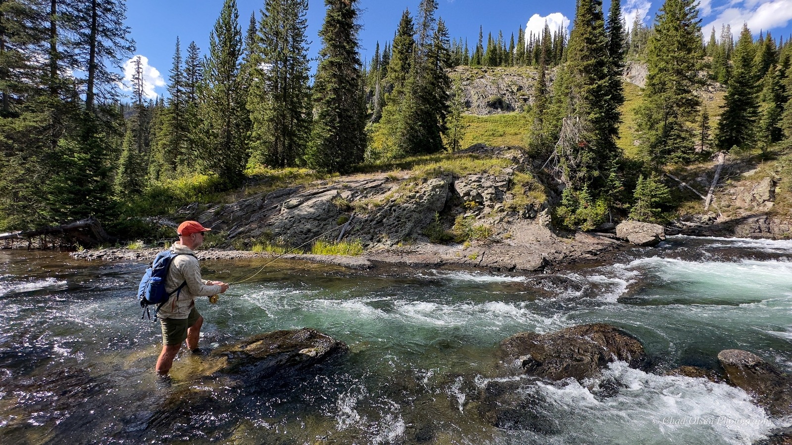
POLYGON ((182 222, 177 229, 179 241, 170 246, 175 257, 168 270, 165 288, 169 293, 173 292, 173 296, 157 310, 162 325, 162 352, 156 368, 160 377, 168 375, 185 340, 192 353, 201 353, 198 337, 204 318, 196 310, 195 298, 228 290, 227 283, 203 280, 200 276, 200 266, 193 251, 204 244, 204 233, 209 230, 200 222, 182 222))

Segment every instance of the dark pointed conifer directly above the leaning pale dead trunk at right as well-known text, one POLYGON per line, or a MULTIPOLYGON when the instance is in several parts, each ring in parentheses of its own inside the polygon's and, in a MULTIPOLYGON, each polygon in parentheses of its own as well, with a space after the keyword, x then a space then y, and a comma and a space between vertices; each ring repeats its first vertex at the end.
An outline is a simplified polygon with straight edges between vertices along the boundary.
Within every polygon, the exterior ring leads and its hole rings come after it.
POLYGON ((743 25, 737 48, 734 48, 734 67, 726 90, 721 119, 718 120, 718 135, 715 145, 718 150, 730 150, 733 146, 748 147, 756 138, 756 120, 759 115, 759 99, 756 89, 756 48, 748 25, 743 25))

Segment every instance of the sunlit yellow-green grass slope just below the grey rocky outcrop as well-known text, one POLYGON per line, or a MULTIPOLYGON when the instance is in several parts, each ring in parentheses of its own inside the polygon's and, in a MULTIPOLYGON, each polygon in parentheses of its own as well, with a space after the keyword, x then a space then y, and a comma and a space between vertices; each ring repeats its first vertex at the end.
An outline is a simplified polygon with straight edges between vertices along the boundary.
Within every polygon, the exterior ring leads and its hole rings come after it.
POLYGON ((524 112, 511 112, 493 116, 463 115, 467 125, 460 145, 467 148, 476 143, 488 146, 525 146, 528 116, 524 112))

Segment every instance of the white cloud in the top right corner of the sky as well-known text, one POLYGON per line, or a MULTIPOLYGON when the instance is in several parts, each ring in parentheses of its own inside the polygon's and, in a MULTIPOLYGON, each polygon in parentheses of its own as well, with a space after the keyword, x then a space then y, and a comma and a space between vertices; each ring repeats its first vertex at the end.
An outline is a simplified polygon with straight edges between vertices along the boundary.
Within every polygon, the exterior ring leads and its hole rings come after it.
POLYGON ((725 9, 718 10, 718 17, 703 29, 712 29, 714 26, 715 32, 720 32, 722 25, 731 25, 736 38, 743 23, 748 24, 753 34, 759 34, 760 31, 783 28, 790 20, 792 0, 736 0, 725 9))

